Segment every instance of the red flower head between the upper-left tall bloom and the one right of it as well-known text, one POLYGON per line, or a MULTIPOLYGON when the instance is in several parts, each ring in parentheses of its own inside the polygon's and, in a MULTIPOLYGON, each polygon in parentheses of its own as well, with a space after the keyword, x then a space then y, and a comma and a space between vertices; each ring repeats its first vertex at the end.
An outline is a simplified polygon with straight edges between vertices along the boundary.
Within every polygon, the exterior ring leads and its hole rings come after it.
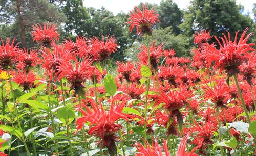
POLYGON ((71 39, 65 40, 65 48, 67 48, 70 53, 74 53, 75 55, 84 56, 87 55, 89 51, 89 47, 87 45, 87 41, 85 37, 76 37, 76 42, 72 42, 71 39))

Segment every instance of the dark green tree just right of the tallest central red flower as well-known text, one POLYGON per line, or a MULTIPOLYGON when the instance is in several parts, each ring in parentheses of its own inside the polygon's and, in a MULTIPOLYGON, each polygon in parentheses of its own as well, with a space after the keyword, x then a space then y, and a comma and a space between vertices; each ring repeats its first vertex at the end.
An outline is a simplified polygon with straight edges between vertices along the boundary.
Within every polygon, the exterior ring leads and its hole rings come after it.
POLYGON ((172 0, 162 0, 156 8, 159 14, 160 27, 173 27, 173 33, 180 34, 179 25, 182 23, 182 11, 172 0))

